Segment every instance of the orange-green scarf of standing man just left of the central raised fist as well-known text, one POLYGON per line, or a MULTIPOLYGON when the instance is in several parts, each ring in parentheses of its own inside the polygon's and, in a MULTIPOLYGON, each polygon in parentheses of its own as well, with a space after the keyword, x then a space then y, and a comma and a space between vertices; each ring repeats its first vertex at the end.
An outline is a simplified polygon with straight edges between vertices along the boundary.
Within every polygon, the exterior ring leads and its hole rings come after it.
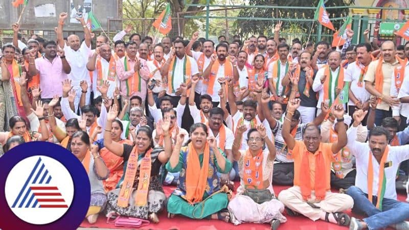
MULTIPOLYGON (((168 92, 169 93, 175 93, 176 89, 174 86, 174 79, 175 78, 183 78, 183 83, 188 84, 190 82, 190 79, 192 78, 192 64, 190 63, 190 58, 189 56, 185 55, 185 60, 183 61, 183 75, 180 75, 181 73, 175 73, 175 68, 176 68, 176 58, 175 57, 172 59, 169 65, 169 71, 168 71, 168 92)), ((188 90, 187 94, 189 95, 190 90, 188 90)))

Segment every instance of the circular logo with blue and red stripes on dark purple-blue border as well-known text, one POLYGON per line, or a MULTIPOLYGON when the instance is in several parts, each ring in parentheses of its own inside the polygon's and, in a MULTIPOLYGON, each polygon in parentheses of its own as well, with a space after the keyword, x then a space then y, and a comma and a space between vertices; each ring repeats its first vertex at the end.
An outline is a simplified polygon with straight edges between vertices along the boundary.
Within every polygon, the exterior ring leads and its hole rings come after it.
POLYGON ((0 158, 0 229, 76 229, 90 201, 88 175, 67 149, 18 145, 0 158))

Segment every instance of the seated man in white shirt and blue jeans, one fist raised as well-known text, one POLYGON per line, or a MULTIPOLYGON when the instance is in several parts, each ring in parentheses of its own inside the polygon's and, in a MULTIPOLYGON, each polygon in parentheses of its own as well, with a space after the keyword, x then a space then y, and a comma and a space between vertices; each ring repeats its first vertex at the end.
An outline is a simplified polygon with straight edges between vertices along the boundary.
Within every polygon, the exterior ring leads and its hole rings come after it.
POLYGON ((379 126, 370 131, 368 143, 355 141, 356 127, 366 113, 355 111, 348 132, 347 147, 356 158, 357 173, 355 186, 347 194, 354 199, 352 211, 368 217, 352 217, 350 229, 407 229, 404 220, 409 218, 409 204, 397 200, 395 178, 399 164, 409 159, 409 145, 389 146, 389 132, 379 126))

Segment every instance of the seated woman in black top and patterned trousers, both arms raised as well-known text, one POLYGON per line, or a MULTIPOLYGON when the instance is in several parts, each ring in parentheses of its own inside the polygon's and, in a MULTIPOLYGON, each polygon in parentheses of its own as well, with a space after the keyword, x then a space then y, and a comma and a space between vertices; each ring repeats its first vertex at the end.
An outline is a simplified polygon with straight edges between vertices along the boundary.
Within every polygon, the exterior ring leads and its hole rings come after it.
POLYGON ((159 222, 157 214, 163 210, 166 196, 158 180, 159 169, 168 162, 172 150, 169 135, 170 120, 165 119, 162 128, 165 133, 165 151, 162 147, 153 148, 152 130, 141 126, 137 131, 135 145, 120 144, 112 140, 112 122, 118 115, 113 105, 108 113, 104 146, 124 161, 124 174, 117 188, 108 192, 107 216, 110 214, 148 219, 159 222), (136 166, 136 167, 135 167, 136 166))

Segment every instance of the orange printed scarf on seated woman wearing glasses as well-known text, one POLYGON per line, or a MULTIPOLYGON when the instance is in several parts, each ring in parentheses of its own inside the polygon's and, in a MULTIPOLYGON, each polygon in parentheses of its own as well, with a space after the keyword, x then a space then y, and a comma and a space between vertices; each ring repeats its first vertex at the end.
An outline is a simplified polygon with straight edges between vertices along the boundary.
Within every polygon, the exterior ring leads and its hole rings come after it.
POLYGON ((260 149, 253 157, 247 149, 243 159, 243 181, 245 188, 264 189, 263 183, 263 151, 260 149))

